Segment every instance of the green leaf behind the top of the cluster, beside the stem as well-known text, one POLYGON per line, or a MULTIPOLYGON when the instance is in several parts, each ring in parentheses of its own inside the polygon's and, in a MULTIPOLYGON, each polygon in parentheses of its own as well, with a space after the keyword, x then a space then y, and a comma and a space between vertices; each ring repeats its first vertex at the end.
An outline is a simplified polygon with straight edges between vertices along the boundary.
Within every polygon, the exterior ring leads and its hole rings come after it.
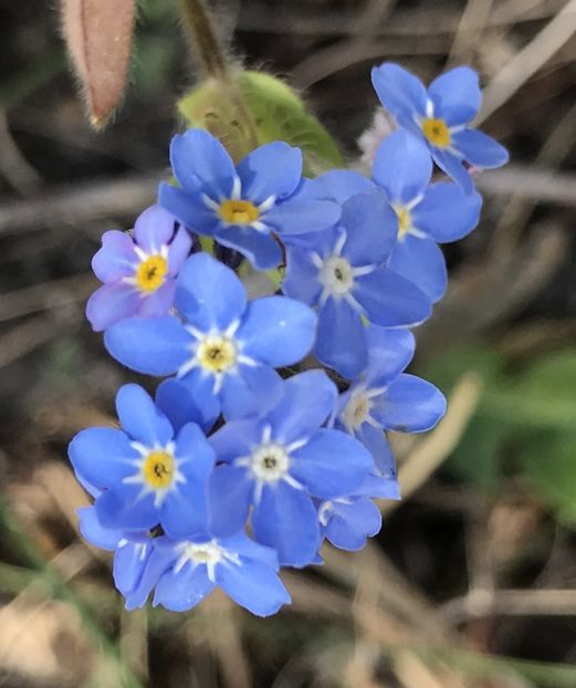
POLYGON ((208 80, 178 103, 187 126, 217 136, 234 159, 272 140, 302 148, 304 173, 344 167, 337 144, 284 82, 262 72, 238 72, 231 84, 208 80))

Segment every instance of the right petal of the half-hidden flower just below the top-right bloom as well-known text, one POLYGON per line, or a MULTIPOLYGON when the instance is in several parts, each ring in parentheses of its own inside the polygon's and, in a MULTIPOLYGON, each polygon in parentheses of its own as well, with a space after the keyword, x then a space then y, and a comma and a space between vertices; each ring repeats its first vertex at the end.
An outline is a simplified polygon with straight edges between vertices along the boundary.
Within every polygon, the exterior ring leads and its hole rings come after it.
POLYGON ((482 197, 476 191, 464 194, 458 185, 440 181, 428 187, 412 210, 412 222, 434 241, 457 241, 478 225, 481 207, 482 197))

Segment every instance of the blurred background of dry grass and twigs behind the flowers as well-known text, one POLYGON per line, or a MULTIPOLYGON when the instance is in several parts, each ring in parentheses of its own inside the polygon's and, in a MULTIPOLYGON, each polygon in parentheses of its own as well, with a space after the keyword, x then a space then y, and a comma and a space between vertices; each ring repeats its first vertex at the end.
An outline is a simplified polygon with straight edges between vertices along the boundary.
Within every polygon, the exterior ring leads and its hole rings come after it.
POLYGON ((143 0, 130 86, 97 134, 54 3, 1 0, 0 686, 575 688, 576 2, 213 7, 233 52, 297 87, 350 160, 374 64, 480 71, 482 126, 512 163, 478 179, 481 226, 447 247, 450 290, 412 366, 450 410, 392 438, 404 501, 383 502, 363 552, 287 571, 292 607, 124 612, 108 555, 78 539, 87 498, 66 460, 134 379, 85 321, 90 261, 154 200, 193 70, 175 1, 143 0))

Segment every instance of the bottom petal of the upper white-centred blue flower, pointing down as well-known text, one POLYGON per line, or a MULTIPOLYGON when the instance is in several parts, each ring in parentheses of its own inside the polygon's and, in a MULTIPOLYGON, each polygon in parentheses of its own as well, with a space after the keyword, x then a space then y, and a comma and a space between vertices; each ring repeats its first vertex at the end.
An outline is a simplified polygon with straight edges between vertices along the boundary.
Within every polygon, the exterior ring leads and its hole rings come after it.
POLYGON ((324 365, 352 379, 368 363, 365 327, 346 301, 328 299, 318 311, 314 355, 324 365))

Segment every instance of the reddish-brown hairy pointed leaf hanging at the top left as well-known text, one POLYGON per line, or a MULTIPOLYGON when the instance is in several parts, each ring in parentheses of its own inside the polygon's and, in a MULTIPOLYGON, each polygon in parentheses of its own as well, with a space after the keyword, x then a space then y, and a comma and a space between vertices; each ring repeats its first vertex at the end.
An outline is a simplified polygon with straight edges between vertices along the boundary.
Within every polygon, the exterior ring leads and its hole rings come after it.
POLYGON ((91 124, 106 124, 128 74, 135 0, 62 0, 62 25, 91 124))

